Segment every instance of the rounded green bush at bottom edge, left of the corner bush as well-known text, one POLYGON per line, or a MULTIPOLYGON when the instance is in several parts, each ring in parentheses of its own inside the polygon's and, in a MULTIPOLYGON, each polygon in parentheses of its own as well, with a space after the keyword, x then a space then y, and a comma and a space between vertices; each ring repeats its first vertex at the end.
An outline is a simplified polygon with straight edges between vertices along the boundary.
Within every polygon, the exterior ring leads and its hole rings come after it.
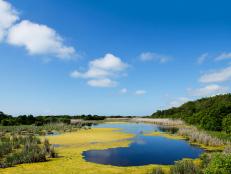
POLYGON ((174 166, 170 168, 171 174, 201 174, 201 170, 192 160, 177 161, 174 166))

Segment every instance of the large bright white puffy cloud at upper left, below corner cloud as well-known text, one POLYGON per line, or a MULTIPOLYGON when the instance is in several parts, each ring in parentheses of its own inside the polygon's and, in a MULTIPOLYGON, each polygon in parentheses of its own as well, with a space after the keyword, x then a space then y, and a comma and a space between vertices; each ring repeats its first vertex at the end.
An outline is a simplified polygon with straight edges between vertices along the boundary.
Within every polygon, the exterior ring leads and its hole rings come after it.
POLYGON ((24 46, 31 55, 51 54, 59 58, 70 58, 73 47, 64 45, 56 31, 46 25, 23 20, 9 30, 7 41, 11 45, 24 46))

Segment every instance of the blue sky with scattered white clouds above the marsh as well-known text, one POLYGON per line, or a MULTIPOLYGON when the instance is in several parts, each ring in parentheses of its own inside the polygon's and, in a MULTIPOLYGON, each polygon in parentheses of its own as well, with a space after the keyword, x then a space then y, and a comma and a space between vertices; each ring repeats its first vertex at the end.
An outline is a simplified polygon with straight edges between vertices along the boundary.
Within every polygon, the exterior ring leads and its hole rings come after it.
POLYGON ((147 115, 230 91, 228 0, 0 0, 0 110, 147 115))

